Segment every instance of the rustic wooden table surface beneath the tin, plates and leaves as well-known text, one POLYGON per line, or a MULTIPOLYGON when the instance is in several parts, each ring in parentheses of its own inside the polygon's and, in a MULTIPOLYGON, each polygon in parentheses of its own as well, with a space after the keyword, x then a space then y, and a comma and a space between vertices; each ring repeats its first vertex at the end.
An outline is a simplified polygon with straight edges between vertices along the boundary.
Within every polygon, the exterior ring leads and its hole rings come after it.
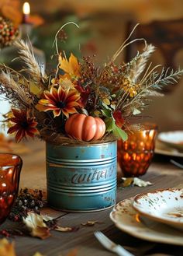
MULTIPOLYGON (((29 143, 28 146, 30 152, 22 155, 23 167, 20 188, 27 187, 46 190, 44 143, 34 141, 29 143)), ((143 180, 151 181, 153 185, 146 188, 118 188, 117 202, 140 192, 181 186, 181 184, 183 184, 183 170, 174 167, 167 157, 156 156, 147 174, 143 176, 143 180)), ((15 240, 16 243, 16 254, 18 256, 32 256, 36 251, 39 251, 46 256, 64 256, 68 251, 77 247, 77 256, 114 255, 112 252, 106 251, 93 235, 95 230, 102 230, 105 235, 116 243, 122 244, 128 247, 128 249, 131 248, 134 255, 161 255, 162 253, 168 255, 183 255, 183 247, 140 240, 118 230, 109 219, 109 212, 111 212, 111 210, 112 209, 107 209, 100 212, 89 213, 68 213, 57 212, 49 208, 45 209, 44 212, 47 212, 50 216, 60 216, 58 219, 60 226, 79 226, 79 230, 71 233, 60 233, 52 230, 52 236, 46 240, 40 240, 34 237, 15 237, 13 240, 15 240), (88 220, 98 220, 101 223, 97 223, 95 226, 81 226, 81 223, 85 223, 88 220), (147 247, 147 251, 142 252, 145 247, 147 247)), ((1 227, 13 228, 17 225, 19 224, 6 220, 1 227)))

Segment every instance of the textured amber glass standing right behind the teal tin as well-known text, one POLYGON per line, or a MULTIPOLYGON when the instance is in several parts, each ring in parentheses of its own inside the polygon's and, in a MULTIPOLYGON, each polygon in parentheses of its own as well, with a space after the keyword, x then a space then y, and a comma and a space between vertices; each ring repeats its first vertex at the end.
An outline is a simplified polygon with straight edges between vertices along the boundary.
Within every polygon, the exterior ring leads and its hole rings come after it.
POLYGON ((139 177, 146 174, 154 156, 156 124, 133 126, 126 142, 118 141, 118 164, 123 177, 139 177))

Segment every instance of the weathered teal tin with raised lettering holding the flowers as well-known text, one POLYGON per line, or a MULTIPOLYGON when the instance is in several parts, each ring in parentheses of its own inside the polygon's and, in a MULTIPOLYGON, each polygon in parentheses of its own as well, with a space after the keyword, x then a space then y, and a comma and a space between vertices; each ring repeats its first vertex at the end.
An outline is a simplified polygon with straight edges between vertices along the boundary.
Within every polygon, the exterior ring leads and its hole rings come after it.
POLYGON ((116 203, 117 146, 57 146, 47 142, 47 202, 54 209, 89 212, 116 203))

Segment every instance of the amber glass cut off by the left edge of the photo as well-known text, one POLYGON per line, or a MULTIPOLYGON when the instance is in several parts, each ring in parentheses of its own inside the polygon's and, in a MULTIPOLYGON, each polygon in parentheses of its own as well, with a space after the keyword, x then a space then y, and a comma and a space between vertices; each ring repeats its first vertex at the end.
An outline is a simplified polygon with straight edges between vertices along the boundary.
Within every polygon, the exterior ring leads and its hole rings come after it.
POLYGON ((0 224, 11 212, 19 190, 22 160, 19 156, 0 153, 0 224))

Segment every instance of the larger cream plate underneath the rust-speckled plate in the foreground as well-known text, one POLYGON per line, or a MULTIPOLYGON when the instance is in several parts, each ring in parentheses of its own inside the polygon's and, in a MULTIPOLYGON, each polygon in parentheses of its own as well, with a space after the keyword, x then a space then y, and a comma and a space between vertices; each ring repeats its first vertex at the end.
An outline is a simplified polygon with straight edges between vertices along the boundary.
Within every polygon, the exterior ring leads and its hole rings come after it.
POLYGON ((123 200, 110 213, 110 219, 119 230, 143 240, 183 246, 181 231, 147 218, 140 218, 140 215, 133 209, 132 203, 133 198, 123 200))

